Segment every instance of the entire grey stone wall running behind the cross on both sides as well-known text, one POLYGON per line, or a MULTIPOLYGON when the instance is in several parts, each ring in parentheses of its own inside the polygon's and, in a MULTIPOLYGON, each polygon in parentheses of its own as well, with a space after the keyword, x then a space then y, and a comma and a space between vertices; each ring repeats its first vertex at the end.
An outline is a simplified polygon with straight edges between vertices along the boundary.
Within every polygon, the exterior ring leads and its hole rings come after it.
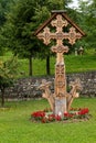
MULTIPOLYGON (((81 73, 81 74, 67 74, 66 81, 74 81, 79 78, 83 89, 79 92, 81 96, 96 97, 96 72, 81 73)), ((51 90, 54 91, 54 77, 32 77, 18 79, 14 85, 6 89, 6 97, 17 99, 41 98, 42 91, 38 88, 42 79, 52 81, 51 90)))

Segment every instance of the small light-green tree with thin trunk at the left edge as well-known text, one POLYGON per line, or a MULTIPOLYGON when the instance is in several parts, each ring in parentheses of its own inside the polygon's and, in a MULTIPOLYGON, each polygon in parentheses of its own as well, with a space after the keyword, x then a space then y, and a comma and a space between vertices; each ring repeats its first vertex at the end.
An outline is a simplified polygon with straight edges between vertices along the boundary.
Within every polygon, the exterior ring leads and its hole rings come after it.
POLYGON ((1 107, 4 106, 4 90, 10 87, 17 75, 17 58, 7 62, 0 62, 0 90, 1 90, 1 107))

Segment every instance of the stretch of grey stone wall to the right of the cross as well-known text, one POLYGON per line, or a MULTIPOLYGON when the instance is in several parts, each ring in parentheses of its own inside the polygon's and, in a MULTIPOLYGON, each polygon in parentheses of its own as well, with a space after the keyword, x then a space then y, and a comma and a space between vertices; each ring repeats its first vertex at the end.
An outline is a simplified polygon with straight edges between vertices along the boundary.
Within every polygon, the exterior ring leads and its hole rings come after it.
POLYGON ((96 72, 67 75, 67 82, 79 78, 82 82, 81 96, 96 97, 96 72))

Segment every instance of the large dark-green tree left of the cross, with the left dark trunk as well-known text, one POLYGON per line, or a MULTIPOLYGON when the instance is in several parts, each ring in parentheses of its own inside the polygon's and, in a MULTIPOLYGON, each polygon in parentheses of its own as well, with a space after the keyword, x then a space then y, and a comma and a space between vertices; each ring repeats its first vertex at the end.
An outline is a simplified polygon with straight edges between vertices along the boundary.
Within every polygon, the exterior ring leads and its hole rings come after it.
POLYGON ((3 29, 8 47, 14 55, 29 58, 30 75, 32 75, 32 57, 35 56, 36 51, 39 52, 38 42, 33 35, 34 8, 35 3, 32 0, 19 0, 13 3, 7 14, 8 21, 3 29))

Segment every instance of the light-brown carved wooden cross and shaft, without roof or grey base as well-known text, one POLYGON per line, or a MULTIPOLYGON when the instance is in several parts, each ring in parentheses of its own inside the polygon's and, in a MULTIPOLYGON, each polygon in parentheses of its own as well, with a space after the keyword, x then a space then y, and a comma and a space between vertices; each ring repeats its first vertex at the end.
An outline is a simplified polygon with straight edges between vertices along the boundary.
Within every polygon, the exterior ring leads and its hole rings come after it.
POLYGON ((44 44, 50 44, 51 40, 56 40, 56 45, 52 46, 52 52, 57 55, 56 67, 55 67, 55 96, 65 96, 66 92, 66 81, 65 81, 65 67, 63 62, 63 53, 68 52, 68 47, 63 45, 63 40, 68 40, 68 43, 74 44, 77 38, 82 37, 79 32, 76 33, 75 28, 70 28, 70 32, 64 32, 63 29, 70 23, 62 16, 57 14, 55 20, 51 21, 51 25, 55 26, 56 32, 50 32, 50 28, 45 26, 43 32, 38 34, 39 38, 44 41, 44 44), (60 64, 60 66, 58 66, 60 64))

